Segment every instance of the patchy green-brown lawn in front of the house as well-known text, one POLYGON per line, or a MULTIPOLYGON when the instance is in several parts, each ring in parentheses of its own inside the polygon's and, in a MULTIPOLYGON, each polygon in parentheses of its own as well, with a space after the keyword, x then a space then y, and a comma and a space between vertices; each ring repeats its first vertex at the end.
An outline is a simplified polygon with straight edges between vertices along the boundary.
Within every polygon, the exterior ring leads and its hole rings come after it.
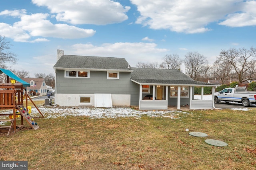
POLYGON ((0 134, 0 160, 27 160, 30 170, 256 169, 256 109, 186 112, 178 119, 36 118, 38 130, 25 122, 17 133, 0 134), (208 137, 192 137, 186 128, 208 137))

